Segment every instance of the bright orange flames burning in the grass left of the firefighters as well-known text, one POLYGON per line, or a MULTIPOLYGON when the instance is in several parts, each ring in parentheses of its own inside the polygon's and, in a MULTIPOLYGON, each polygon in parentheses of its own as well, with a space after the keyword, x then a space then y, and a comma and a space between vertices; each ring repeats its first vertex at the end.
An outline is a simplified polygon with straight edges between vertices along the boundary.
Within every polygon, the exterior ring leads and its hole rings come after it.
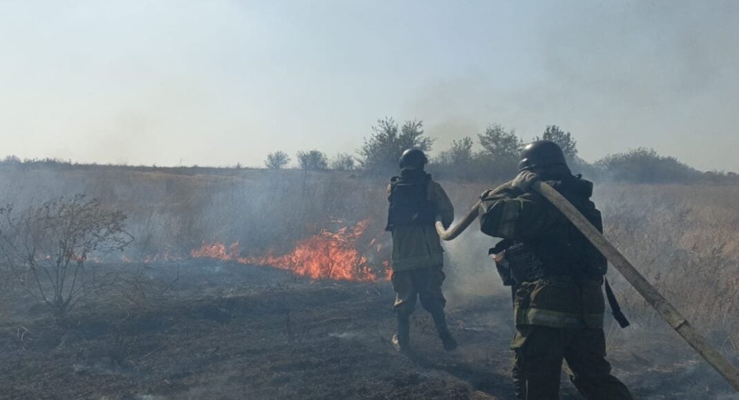
MULTIPOLYGON (((353 228, 343 227, 336 232, 323 230, 318 235, 300 241, 292 252, 285 255, 270 253, 261 257, 242 257, 237 241, 231 246, 222 243, 203 242, 200 249, 190 253, 192 258, 213 258, 222 261, 273 266, 288 269, 297 275, 311 279, 354 280, 372 282, 378 275, 367 263, 367 257, 357 249, 357 242, 367 229, 368 220, 360 221, 353 228)), ((372 247, 374 240, 369 244, 372 247)), ((381 249, 377 247, 378 251, 381 249)), ((388 271, 387 263, 384 269, 388 271)), ((386 272, 384 278, 389 279, 386 272)))

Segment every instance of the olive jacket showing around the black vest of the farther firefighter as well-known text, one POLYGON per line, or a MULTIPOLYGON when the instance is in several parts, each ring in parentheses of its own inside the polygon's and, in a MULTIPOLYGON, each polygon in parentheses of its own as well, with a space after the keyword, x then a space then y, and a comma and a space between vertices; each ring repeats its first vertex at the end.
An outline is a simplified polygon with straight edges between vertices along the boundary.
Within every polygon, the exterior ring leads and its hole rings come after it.
MULTIPOLYGON (((392 186, 388 185, 388 201, 392 186)), ((445 227, 454 220, 454 206, 446 196, 441 185, 434 180, 429 182, 429 200, 435 204, 436 213, 441 215, 445 227)), ((392 230, 392 258, 390 265, 393 271, 442 266, 444 263, 443 248, 433 224, 398 226, 392 230)))

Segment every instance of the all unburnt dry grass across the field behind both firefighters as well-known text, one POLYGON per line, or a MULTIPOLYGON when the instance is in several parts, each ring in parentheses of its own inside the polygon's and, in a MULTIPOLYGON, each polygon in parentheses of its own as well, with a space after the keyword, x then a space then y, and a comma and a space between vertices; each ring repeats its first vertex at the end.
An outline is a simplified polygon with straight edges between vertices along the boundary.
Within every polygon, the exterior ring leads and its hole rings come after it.
MULTIPOLYGON (((499 182, 441 182, 461 215, 499 182)), ((129 215, 137 241, 128 255, 188 255, 202 241, 240 241, 245 252, 285 251, 335 222, 369 218, 383 232, 386 180, 351 173, 233 170, 179 175, 115 168, 0 170, 3 203, 24 204, 87 193, 129 215)), ((665 297, 702 331, 735 349, 739 343, 739 187, 729 185, 596 185, 606 235, 665 297), (733 343, 733 344, 732 344, 733 343)), ((474 228, 473 228, 474 230, 474 228)), ((486 257, 493 240, 465 233, 449 243, 450 280, 462 294, 502 292, 486 257)), ((647 328, 664 324, 610 272, 625 311, 647 328)), ((457 289, 457 290, 454 290, 457 289)), ((616 341, 617 342, 617 341, 616 341)))

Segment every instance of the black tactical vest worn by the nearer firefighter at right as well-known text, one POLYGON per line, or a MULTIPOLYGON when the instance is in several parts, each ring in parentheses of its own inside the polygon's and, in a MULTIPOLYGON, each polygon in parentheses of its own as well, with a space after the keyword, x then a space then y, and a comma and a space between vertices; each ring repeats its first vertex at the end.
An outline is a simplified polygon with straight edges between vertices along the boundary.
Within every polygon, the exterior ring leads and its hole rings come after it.
MULTIPOLYGON (((573 176, 561 182, 548 183, 588 218, 590 224, 603 231, 601 213, 590 201, 593 194, 591 182, 573 176)), ((559 210, 552 206, 552 212, 559 213, 559 210)), ((606 258, 567 219, 539 238, 525 242, 512 241, 508 244, 506 256, 511 263, 511 275, 517 282, 531 282, 557 275, 600 277, 607 270, 606 258)))

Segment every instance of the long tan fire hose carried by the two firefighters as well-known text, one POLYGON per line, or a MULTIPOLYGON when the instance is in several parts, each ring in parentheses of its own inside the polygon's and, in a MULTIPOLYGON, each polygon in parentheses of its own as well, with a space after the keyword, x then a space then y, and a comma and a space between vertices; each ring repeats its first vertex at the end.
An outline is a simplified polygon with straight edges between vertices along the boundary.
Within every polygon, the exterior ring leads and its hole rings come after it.
MULTIPOLYGON (((608 241, 605 236, 590 224, 587 218, 582 215, 570 201, 565 199, 559 192, 554 190, 554 187, 546 184, 545 182, 536 181, 531 188, 536 190, 537 193, 541 194, 548 201, 554 204, 562 214, 567 217, 577 229, 585 235, 586 238, 596 246, 596 248, 605 255, 605 258, 621 272, 624 278, 636 289, 636 292, 644 297, 651 306, 655 308, 658 314, 665 320, 672 329, 680 334, 688 344, 698 351, 706 362, 709 363, 718 373, 732 385, 735 390, 739 392, 739 369, 729 362, 716 348, 714 348, 695 328, 690 325, 688 320, 680 314, 680 312, 670 304, 658 291, 652 286, 644 275, 641 275, 636 268, 624 257, 624 255, 616 249, 613 244, 608 241)), ((454 227, 449 230, 445 230, 443 224, 437 220, 436 230, 439 233, 440 238, 445 241, 451 241, 456 238, 460 233, 466 230, 467 227, 477 218, 480 208, 480 201, 471 208, 469 213, 454 227)))

